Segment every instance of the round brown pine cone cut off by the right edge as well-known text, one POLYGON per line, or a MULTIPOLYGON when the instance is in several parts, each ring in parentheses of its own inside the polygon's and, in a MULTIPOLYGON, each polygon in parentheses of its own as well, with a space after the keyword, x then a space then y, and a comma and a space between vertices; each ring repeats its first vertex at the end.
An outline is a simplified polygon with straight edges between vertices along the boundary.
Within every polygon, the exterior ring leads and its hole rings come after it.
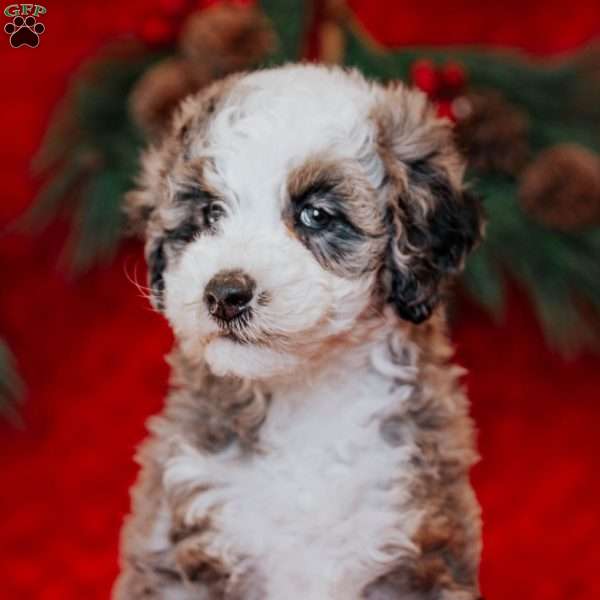
POLYGON ((523 210, 552 229, 600 224, 600 158, 576 144, 542 152, 523 172, 523 210))

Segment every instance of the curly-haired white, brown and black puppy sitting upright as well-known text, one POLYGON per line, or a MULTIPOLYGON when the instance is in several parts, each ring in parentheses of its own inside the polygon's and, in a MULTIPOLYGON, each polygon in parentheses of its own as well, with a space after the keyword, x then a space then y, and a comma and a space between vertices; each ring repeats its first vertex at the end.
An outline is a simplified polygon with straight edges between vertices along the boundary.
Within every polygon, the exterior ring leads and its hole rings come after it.
POLYGON ((440 300, 481 231, 423 94, 290 65, 187 98, 127 198, 175 333, 116 600, 475 600, 440 300))

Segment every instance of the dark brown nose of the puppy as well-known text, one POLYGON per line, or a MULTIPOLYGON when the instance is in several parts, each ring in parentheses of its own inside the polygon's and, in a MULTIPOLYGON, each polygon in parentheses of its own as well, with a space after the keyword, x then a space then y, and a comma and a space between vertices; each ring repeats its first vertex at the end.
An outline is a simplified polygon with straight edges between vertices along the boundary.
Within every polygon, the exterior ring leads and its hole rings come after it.
POLYGON ((248 307, 254 288, 254 280, 242 271, 222 271, 208 282, 204 302, 213 317, 231 321, 248 307))

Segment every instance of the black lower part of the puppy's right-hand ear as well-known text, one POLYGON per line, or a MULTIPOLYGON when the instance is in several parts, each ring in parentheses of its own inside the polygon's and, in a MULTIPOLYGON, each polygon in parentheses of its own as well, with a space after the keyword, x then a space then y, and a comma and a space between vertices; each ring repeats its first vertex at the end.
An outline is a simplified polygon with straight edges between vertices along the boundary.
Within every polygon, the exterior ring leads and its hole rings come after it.
POLYGON ((446 278, 462 269, 466 255, 479 241, 481 207, 468 192, 453 189, 446 175, 427 160, 409 165, 408 191, 397 202, 388 219, 388 300, 401 318, 421 323, 438 304, 446 278), (411 192, 418 194, 419 201, 411 192))

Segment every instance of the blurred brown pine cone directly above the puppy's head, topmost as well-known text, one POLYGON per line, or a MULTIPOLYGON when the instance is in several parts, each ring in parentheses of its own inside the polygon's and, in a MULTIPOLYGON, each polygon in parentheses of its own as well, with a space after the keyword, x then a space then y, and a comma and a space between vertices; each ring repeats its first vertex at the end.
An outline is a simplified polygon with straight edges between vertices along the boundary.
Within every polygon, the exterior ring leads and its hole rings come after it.
POLYGON ((209 62, 223 76, 257 63, 274 48, 275 36, 259 10, 222 3, 187 19, 179 46, 186 58, 209 62))

